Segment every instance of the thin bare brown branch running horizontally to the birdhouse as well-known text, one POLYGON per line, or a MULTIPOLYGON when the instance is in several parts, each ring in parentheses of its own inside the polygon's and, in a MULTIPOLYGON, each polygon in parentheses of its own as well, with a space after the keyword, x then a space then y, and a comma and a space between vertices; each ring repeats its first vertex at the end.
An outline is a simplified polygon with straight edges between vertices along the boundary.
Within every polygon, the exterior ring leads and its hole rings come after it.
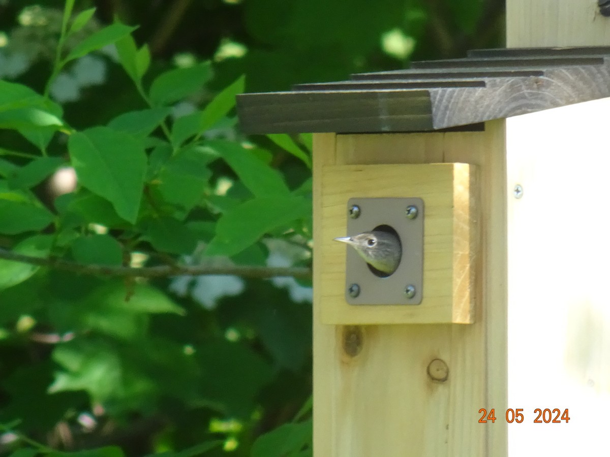
POLYGON ((308 267, 264 267, 243 265, 160 265, 152 267, 106 266, 77 263, 54 258, 31 257, 29 255, 18 254, 5 249, 0 249, 0 259, 27 263, 30 265, 46 266, 58 270, 71 271, 85 275, 118 277, 160 278, 178 275, 235 275, 246 278, 271 278, 278 276, 292 276, 295 278, 311 277, 311 269, 308 267))

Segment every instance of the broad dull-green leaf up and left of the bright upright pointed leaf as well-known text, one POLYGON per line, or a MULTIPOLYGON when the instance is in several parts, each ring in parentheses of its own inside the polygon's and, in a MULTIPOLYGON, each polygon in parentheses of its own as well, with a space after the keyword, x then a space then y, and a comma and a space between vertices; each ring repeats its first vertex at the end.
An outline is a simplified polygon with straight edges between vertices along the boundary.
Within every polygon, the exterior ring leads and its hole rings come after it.
POLYGON ((212 76, 210 63, 176 68, 160 74, 152 82, 150 98, 154 105, 168 105, 201 90, 212 76))

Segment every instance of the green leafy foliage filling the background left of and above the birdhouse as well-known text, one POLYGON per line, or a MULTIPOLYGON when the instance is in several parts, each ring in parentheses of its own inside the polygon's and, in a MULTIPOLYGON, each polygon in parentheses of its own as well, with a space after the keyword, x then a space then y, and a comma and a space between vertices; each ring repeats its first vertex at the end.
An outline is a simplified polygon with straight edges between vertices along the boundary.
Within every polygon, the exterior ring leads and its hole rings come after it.
MULTIPOLYGON (((501 45, 493 0, 0 1, 0 248, 311 261, 310 135, 235 94, 501 45), (129 24, 129 26, 125 25, 129 24)), ((311 289, 0 259, 0 455, 310 456, 311 289)))

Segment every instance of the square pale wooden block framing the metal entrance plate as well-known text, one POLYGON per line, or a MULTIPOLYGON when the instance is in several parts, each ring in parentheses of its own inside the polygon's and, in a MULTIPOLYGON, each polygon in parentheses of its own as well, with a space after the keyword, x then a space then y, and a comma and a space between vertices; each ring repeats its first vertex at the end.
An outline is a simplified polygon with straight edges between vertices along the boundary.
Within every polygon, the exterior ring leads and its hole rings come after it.
MULTIPOLYGON (((478 248, 476 167, 465 163, 325 166, 321 176, 321 318, 324 324, 470 324, 478 248), (420 305, 349 305, 345 245, 350 198, 424 200, 420 305)), ((371 227, 372 228, 372 227, 371 227)), ((372 273, 371 273, 372 275, 372 273)), ((383 280, 383 278, 379 278, 383 280)))

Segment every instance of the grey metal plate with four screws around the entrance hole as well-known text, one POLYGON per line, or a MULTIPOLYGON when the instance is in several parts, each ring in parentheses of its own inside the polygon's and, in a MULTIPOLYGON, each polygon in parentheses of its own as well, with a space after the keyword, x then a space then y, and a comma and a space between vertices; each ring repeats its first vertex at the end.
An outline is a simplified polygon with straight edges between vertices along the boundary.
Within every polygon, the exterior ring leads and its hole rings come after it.
POLYGON ((378 225, 390 225, 400 236, 403 255, 398 269, 388 277, 373 274, 364 260, 346 246, 345 300, 350 305, 419 305, 423 297, 423 222, 424 205, 420 198, 351 198, 346 213, 353 205, 359 216, 347 218, 347 236, 369 232, 378 225), (407 218, 406 209, 417 207, 417 217, 407 218), (350 296, 350 285, 357 284, 360 293, 350 296), (415 287, 415 296, 407 298, 407 286, 415 287))

